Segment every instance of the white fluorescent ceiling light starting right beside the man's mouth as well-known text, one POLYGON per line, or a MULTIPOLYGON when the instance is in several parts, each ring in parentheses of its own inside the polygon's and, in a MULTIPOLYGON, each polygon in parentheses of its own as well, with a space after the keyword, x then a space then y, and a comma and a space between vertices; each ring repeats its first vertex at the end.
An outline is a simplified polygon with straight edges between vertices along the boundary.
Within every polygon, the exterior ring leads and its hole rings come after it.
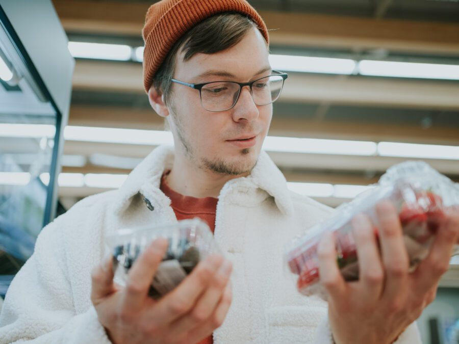
POLYGON ((263 149, 271 152, 375 155, 376 143, 369 141, 300 139, 268 136, 263 149))

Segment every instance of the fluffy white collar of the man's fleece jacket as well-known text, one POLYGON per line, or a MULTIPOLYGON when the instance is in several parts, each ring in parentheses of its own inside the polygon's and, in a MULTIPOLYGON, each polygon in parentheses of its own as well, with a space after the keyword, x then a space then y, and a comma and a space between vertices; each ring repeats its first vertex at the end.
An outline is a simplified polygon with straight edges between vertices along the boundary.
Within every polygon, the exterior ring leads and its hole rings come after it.
MULTIPOLYGON (((161 176, 164 171, 172 168, 174 160, 173 146, 159 146, 145 157, 145 159, 132 170, 124 183, 118 189, 114 199, 115 214, 121 215, 129 207, 133 196, 142 193, 142 190, 155 190, 160 192, 161 176)), ((282 172, 275 166, 269 155, 262 151, 257 165, 247 177, 236 178, 228 181, 223 187, 220 197, 230 190, 239 191, 246 196, 261 194, 272 196, 284 215, 293 213, 293 203, 287 189, 287 181, 282 172), (263 193, 264 191, 264 193, 263 193)), ((265 197, 265 198, 266 198, 265 197)), ((168 205, 168 204, 165 204, 168 205)))

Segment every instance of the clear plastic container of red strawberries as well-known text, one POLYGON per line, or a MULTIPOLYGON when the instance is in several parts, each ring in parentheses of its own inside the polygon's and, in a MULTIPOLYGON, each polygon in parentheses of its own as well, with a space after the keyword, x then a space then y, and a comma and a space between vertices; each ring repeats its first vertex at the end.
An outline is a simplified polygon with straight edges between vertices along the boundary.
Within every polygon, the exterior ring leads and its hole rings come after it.
MULTIPOLYGON (((325 298, 319 283, 317 246, 325 231, 333 233, 337 264, 347 281, 359 279, 359 263, 352 236, 351 220, 366 214, 378 236, 375 205, 389 199, 397 209, 403 229, 403 240, 410 258, 410 270, 426 257, 430 245, 441 228, 446 207, 459 206, 459 184, 452 182, 424 162, 395 165, 381 176, 371 190, 336 209, 334 215, 295 238, 286 250, 288 270, 296 277, 296 286, 304 295, 325 298)), ((456 245, 455 252, 459 253, 456 245)))

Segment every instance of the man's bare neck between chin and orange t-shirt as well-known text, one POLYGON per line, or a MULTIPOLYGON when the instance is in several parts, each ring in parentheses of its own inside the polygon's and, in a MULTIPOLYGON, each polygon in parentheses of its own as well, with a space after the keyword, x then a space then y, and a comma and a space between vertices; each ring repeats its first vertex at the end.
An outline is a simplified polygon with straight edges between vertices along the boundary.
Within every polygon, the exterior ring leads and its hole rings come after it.
POLYGON ((203 170, 192 164, 187 158, 174 158, 174 164, 167 178, 169 188, 185 196, 196 198, 220 195, 224 184, 242 175, 224 175, 203 170))

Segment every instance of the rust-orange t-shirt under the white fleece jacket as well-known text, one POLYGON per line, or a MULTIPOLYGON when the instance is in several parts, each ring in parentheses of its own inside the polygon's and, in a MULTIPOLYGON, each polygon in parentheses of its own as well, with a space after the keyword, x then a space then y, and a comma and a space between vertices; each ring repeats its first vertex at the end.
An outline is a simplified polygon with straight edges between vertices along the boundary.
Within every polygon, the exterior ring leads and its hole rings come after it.
MULTIPOLYGON (((177 220, 193 219, 198 217, 207 222, 213 233, 215 230, 215 215, 217 212, 218 198, 196 198, 184 196, 173 191, 166 183, 166 175, 168 175, 169 172, 170 171, 167 171, 163 174, 160 189, 167 197, 170 198, 171 207, 174 209, 177 220)), ((213 344, 213 342, 212 335, 210 335, 197 344, 213 344)))

